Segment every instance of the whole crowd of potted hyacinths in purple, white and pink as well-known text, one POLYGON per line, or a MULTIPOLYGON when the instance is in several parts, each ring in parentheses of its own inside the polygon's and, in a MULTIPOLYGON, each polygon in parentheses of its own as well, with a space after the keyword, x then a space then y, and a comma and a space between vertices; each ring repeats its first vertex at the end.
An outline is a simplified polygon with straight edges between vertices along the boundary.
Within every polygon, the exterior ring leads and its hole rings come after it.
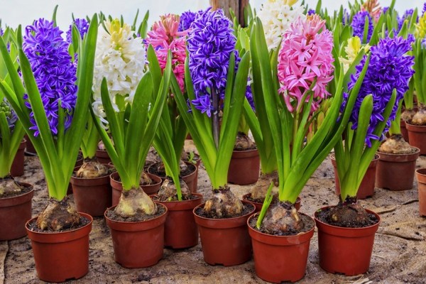
MULTIPOLYGON (((0 129, 1 154, 9 159, 2 159, 8 161, 0 167, 6 170, 2 176, 9 175, 10 157, 26 131, 50 196, 43 212, 31 219, 32 187, 2 180, 0 190, 28 192, 27 215, 17 226, 21 232, 6 238, 23 236, 26 228, 38 277, 59 282, 87 273, 92 216, 104 215, 115 260, 128 268, 154 265, 164 246, 195 246, 199 230, 207 263, 234 266, 248 261, 253 250, 257 275, 280 283, 305 274, 316 225, 324 270, 365 273, 381 219, 361 207, 357 192, 379 147, 381 167, 386 143, 401 140, 400 111, 403 101, 409 108, 410 80, 420 122, 425 102, 426 14, 417 23, 416 9, 399 27, 393 4, 385 11, 377 1, 356 2, 350 11, 328 15, 320 5, 306 11, 297 1, 268 1, 258 16, 247 9, 246 28, 233 25, 222 10, 207 9, 162 16, 150 31, 148 13, 138 27, 136 21, 129 26, 101 13, 75 20, 68 40, 45 19, 24 34, 21 27, 6 28, 0 53, 7 76, 0 88, 7 101, 0 129), (271 18, 283 11, 288 15, 273 26, 271 18), (19 119, 13 128, 12 114, 19 119), (231 165, 234 148, 253 148, 248 126, 261 164, 259 180, 258 165, 231 165), (389 128, 391 137, 381 144, 389 128), (182 162, 188 131, 212 184, 212 197, 203 204, 196 182, 181 176, 190 167, 182 162), (116 173, 95 158, 99 136, 116 173), (143 190, 150 178, 143 169, 151 144, 165 173, 152 197, 143 190), (80 148, 84 162, 76 168, 80 148), (297 211, 298 195, 333 148, 340 201, 312 219, 297 211), (248 201, 227 185, 244 184, 230 175, 231 167, 256 173, 249 180, 258 182, 248 201), (88 178, 94 183, 87 185, 88 178), (68 202, 70 181, 82 212, 68 202), (102 194, 111 199, 99 204, 102 194), (252 202, 263 203, 256 214, 252 202), (329 244, 332 240, 339 241, 329 244), (348 256, 359 261, 346 261, 348 256)), ((421 153, 414 151, 414 165, 421 153)), ((420 194, 426 191, 425 173, 417 173, 420 194)), ((413 178, 406 187, 412 186, 413 178)), ((1 222, 12 224, 15 215, 6 213, 1 222)))

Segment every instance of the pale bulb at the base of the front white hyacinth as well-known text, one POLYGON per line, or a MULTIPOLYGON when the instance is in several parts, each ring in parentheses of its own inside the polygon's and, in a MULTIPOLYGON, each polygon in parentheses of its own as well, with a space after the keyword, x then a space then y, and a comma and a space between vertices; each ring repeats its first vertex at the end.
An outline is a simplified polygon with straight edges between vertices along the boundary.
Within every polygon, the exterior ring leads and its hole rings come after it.
POLYGON ((132 217, 138 212, 153 215, 157 212, 157 205, 141 187, 132 188, 131 190, 123 190, 115 212, 124 218, 132 217))

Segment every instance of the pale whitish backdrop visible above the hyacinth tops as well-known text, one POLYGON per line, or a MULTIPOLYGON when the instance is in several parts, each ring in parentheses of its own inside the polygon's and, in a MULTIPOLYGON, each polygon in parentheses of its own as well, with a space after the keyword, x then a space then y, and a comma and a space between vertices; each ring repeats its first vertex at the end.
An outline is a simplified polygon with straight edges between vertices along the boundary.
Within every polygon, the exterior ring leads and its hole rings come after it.
MULTIPOLYGON (((250 0, 251 6, 258 10, 266 0, 250 0)), ((395 9, 403 13, 406 9, 417 7, 422 11, 425 0, 396 0, 395 9)), ((316 0, 305 0, 310 8, 315 9, 316 0)), ((322 0, 322 6, 327 9, 338 9, 339 6, 347 6, 348 0, 322 0)), ((26 26, 38 18, 52 18, 55 5, 59 5, 57 13, 58 26, 66 31, 72 21, 72 13, 75 18, 103 11, 114 17, 124 16, 126 23, 132 23, 137 9, 139 17, 149 10, 149 23, 157 21, 158 16, 164 13, 180 14, 184 11, 198 11, 209 6, 209 0, 0 0, 0 18, 2 26, 8 25, 16 28, 19 24, 26 26)), ((389 6, 391 0, 381 0, 381 6, 389 6)))

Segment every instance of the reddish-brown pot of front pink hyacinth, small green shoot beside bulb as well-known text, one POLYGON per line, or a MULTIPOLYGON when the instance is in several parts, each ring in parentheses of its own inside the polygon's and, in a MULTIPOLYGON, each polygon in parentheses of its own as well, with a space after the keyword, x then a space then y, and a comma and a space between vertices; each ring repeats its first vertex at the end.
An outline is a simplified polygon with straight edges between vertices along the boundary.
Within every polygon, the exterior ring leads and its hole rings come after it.
POLYGON ((306 271, 310 239, 314 235, 315 226, 295 236, 274 236, 264 234, 250 226, 250 220, 255 215, 249 218, 247 225, 253 245, 256 275, 272 283, 296 282, 302 279, 306 271))

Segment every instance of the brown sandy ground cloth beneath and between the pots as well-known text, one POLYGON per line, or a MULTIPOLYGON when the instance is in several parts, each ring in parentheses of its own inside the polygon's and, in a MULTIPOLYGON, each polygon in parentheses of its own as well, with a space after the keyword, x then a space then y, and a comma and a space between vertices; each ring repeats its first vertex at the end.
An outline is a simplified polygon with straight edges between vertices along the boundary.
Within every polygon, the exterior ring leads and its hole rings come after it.
MULTIPOLYGON (((187 147, 192 148, 191 142, 187 147)), ((33 216, 46 204, 43 172, 36 157, 26 157, 26 175, 21 181, 35 188, 33 216)), ((417 168, 426 167, 426 157, 417 160, 417 168)), ((231 185, 241 197, 250 186, 231 185)), ((209 179, 201 167, 198 192, 204 199, 210 195, 209 179)), ((337 204, 334 195, 334 173, 327 158, 305 186, 301 212, 312 214, 328 204, 337 204)), ((373 197, 361 204, 382 217, 368 273, 354 277, 322 271, 318 264, 317 234, 310 245, 305 278, 300 283, 426 283, 426 219, 418 216, 417 182, 413 190, 391 192, 376 188, 373 197)), ((0 241, 0 284, 43 283, 35 273, 28 238, 0 241)), ((253 261, 240 266, 209 266, 204 263, 200 244, 185 250, 164 250, 163 259, 151 268, 127 269, 114 262, 109 229, 101 217, 93 222, 90 234, 89 273, 69 283, 266 283, 256 276, 253 261)))

